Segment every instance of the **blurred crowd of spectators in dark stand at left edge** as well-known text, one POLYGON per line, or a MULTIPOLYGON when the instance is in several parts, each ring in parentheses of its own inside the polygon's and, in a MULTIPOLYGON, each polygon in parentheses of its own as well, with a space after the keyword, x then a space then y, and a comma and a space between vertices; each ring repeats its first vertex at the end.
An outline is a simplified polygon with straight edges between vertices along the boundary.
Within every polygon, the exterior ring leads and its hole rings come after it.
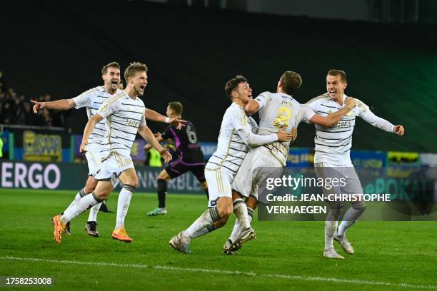
MULTIPOLYGON (((35 98, 37 101, 51 101, 50 94, 35 98)), ((65 126, 66 111, 44 109, 35 114, 29 99, 17 95, 14 88, 6 86, 4 75, 0 71, 0 123, 26 126, 65 126)))

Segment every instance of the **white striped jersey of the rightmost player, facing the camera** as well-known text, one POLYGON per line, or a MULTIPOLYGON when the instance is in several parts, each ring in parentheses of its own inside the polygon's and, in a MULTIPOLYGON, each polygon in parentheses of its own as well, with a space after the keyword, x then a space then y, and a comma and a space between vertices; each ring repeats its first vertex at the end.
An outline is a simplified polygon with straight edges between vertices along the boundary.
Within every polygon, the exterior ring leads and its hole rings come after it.
MULTIPOLYGON (((343 95, 343 105, 339 105, 331 99, 328 93, 311 99, 308 106, 321 116, 341 110, 346 103, 346 95, 343 95)), ((355 128, 355 118, 359 116, 372 126, 381 128, 383 131, 393 132, 393 124, 383 118, 379 118, 363 102, 355 99, 356 106, 349 111, 341 121, 338 121, 331 128, 316 124, 316 137, 314 144, 316 154, 314 163, 328 163, 331 165, 351 166, 350 151, 352 148, 352 133, 355 128)))

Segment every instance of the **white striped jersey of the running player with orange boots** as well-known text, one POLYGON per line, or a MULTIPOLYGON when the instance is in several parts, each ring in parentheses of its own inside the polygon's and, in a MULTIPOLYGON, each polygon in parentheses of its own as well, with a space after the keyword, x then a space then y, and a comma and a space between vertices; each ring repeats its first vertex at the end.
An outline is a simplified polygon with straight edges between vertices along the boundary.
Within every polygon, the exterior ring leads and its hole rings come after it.
POLYGON ((146 125, 144 102, 132 99, 126 91, 120 91, 107 99, 99 108, 99 115, 106 118, 106 132, 101 142, 101 156, 118 152, 129 157, 139 126, 146 125))

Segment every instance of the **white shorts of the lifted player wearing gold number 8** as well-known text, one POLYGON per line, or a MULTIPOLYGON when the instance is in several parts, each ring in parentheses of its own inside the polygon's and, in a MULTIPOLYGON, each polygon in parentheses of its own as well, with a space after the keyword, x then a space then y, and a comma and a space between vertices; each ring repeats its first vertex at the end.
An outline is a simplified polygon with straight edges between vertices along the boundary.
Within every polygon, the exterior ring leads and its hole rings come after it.
POLYGON ((268 148, 263 146, 252 148, 233 179, 232 190, 236 190, 244 197, 251 195, 258 200, 259 185, 265 183, 267 178, 279 177, 282 170, 281 162, 268 148))

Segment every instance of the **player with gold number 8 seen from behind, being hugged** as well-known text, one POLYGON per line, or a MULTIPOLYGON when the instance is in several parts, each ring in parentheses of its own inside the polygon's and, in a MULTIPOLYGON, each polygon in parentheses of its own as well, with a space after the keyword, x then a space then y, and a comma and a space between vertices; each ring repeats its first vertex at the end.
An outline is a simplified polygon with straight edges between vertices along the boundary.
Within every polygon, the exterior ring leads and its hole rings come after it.
MULTIPOLYGON (((302 121, 333 126, 354 106, 353 98, 348 98, 348 105, 341 111, 324 117, 320 116, 292 97, 300 88, 301 83, 302 79, 298 73, 286 71, 278 81, 276 93, 263 92, 247 103, 246 113, 252 115, 259 112, 257 134, 269 135, 281 128, 291 131, 292 128, 297 128, 302 121)), ((253 210, 258 205, 258 186, 267 178, 281 175, 283 167, 286 166, 289 148, 288 142, 276 141, 258 148, 251 148, 244 158, 233 180, 232 190, 247 198, 249 222, 253 217, 253 210)), ((231 237, 223 245, 223 253, 235 255, 235 252, 239 250, 243 242, 238 242, 237 238, 242 227, 241 221, 237 219, 231 237)))

